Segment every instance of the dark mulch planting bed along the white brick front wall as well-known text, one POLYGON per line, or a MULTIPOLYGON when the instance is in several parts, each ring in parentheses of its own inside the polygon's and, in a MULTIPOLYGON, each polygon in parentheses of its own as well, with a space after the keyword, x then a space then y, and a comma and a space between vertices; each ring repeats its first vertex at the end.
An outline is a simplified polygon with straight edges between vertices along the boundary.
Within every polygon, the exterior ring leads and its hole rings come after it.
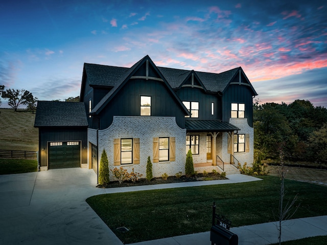
POLYGON ((227 180, 226 177, 222 177, 219 173, 198 173, 192 177, 181 177, 169 176, 167 180, 163 180, 161 177, 153 178, 151 181, 146 179, 140 179, 136 182, 124 181, 119 184, 118 181, 112 181, 108 185, 98 185, 98 188, 115 188, 115 187, 130 187, 130 186, 144 186, 144 185, 158 185, 158 184, 169 184, 169 183, 182 183, 182 182, 194 182, 194 181, 214 181, 214 180, 227 180))

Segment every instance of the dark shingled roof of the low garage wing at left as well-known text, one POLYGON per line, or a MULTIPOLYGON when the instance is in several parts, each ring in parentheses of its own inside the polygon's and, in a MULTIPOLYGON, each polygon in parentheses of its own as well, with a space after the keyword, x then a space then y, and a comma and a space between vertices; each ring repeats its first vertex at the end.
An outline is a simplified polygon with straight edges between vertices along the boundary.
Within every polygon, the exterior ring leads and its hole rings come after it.
POLYGON ((88 126, 83 102, 38 101, 34 127, 88 126))

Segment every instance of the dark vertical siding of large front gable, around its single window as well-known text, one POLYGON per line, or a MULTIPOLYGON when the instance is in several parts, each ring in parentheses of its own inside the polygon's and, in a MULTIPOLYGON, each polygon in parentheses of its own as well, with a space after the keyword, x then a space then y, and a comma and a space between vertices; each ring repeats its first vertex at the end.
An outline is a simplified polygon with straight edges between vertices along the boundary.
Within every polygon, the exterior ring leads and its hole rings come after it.
MULTIPOLYGON (((113 116, 140 116, 141 96, 151 96, 151 116, 175 117, 177 125, 184 128, 182 107, 164 82, 130 79, 100 113, 100 129, 109 127, 113 116)), ((97 128, 96 122, 92 127, 97 128)))

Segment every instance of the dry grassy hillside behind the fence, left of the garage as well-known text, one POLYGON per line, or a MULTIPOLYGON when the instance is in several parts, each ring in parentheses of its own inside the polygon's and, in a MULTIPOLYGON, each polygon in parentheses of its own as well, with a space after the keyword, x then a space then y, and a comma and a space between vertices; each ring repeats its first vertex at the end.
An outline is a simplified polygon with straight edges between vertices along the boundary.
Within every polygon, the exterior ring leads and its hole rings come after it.
POLYGON ((38 150, 39 133, 35 114, 26 110, 0 109, 0 149, 38 150))

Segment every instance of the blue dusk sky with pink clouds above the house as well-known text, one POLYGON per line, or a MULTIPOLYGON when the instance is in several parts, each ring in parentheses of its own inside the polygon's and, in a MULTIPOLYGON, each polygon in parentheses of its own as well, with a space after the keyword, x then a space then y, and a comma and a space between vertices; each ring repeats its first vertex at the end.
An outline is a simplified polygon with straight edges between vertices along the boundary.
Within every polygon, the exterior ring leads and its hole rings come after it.
MULTIPOLYGON (((0 2, 0 85, 80 94, 83 63, 221 73, 242 66, 262 103, 327 107, 327 2, 0 2)), ((4 107, 5 101, 2 99, 4 107)))

